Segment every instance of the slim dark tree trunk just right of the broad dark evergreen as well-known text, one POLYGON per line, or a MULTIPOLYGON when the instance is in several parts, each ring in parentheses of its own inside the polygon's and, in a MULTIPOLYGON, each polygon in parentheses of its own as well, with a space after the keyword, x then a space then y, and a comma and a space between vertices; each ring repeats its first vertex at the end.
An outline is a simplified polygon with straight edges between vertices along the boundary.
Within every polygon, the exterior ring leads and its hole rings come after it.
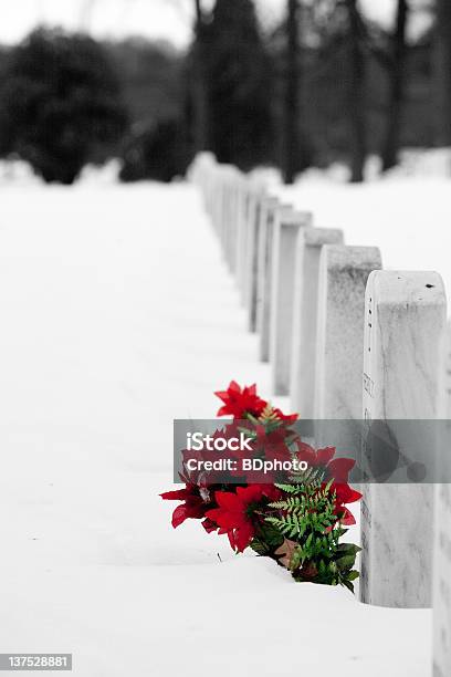
POLYGON ((283 174, 293 184, 298 170, 300 139, 300 4, 287 0, 286 8, 286 86, 284 101, 283 174))

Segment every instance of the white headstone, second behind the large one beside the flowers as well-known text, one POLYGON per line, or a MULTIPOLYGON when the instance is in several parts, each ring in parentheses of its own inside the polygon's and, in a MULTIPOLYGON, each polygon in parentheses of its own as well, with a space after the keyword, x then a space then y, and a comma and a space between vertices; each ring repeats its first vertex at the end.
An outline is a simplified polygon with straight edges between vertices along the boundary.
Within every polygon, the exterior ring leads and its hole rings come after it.
POLYGON ((319 256, 324 244, 342 244, 337 228, 304 228, 297 241, 294 281, 291 403, 304 419, 313 418, 319 256))

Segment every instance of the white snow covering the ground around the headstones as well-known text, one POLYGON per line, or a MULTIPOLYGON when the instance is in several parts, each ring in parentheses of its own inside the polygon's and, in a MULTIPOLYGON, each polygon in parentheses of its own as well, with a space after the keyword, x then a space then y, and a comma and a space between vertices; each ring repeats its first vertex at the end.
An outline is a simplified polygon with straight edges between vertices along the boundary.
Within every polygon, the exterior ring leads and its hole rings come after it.
MULTIPOLYGON (((231 378, 271 395, 196 189, 0 191, 0 653, 73 653, 83 677, 428 676, 430 611, 295 584, 170 525, 172 419, 212 417, 231 378)), ((418 247, 449 275, 450 184, 384 191, 296 199, 390 265, 418 247)))

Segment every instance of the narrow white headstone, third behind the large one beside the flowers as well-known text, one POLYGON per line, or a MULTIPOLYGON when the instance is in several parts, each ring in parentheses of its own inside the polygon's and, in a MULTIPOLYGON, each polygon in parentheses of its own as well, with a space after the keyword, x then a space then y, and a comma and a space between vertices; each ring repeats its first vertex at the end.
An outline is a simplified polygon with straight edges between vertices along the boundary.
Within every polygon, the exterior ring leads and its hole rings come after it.
POLYGON ((294 273, 297 236, 301 228, 312 225, 307 211, 277 212, 272 242, 270 362, 273 372, 273 392, 287 395, 293 338, 294 273))

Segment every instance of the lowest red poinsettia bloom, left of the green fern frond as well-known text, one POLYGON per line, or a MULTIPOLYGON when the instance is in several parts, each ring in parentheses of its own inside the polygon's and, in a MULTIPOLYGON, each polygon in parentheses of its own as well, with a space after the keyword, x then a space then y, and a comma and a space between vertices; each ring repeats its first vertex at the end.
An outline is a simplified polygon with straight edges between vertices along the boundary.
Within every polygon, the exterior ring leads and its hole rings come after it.
POLYGON ((218 524, 218 533, 229 535, 233 550, 243 552, 255 535, 253 513, 264 498, 273 501, 279 494, 279 490, 271 485, 238 487, 237 493, 217 491, 214 498, 219 508, 209 510, 207 518, 218 524))

